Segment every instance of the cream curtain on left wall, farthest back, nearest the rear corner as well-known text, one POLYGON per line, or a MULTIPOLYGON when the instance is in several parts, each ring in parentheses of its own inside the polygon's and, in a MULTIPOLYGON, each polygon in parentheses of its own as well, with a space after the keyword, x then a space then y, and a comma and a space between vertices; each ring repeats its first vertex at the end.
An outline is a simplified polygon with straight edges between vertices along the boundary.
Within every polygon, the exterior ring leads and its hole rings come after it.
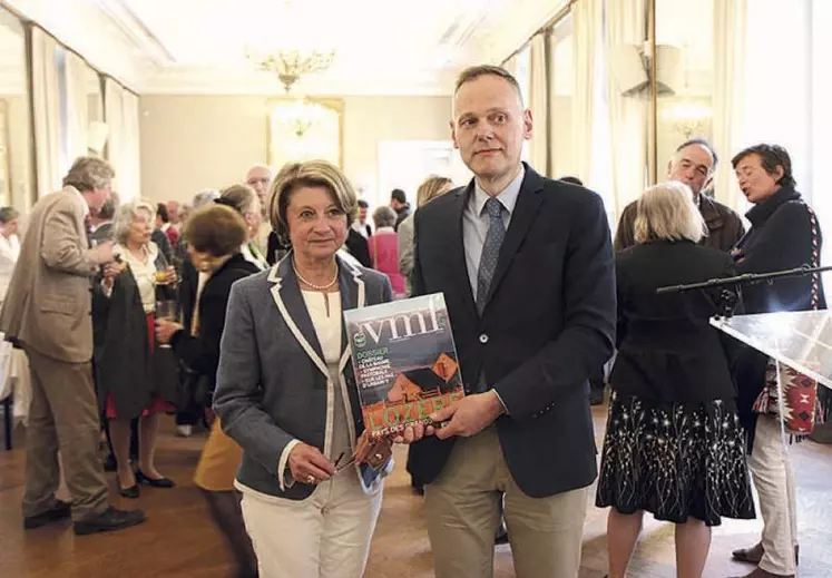
POLYGON ((107 160, 116 169, 112 184, 123 202, 140 195, 138 97, 108 78, 104 91, 104 115, 109 127, 107 160))

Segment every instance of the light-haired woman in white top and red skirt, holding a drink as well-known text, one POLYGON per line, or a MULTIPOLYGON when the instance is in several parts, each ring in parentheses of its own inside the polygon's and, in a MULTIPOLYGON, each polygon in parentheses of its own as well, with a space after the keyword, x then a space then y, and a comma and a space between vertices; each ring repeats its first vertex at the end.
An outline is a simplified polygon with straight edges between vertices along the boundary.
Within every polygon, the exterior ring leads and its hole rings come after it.
POLYGON ((166 399, 175 399, 176 375, 169 350, 155 342, 154 321, 157 300, 174 298, 176 272, 150 241, 153 224, 153 205, 139 202, 119 207, 112 236, 124 270, 115 280, 102 281, 104 291, 94 298, 98 399, 104 403, 119 493, 125 498, 138 498, 139 483, 174 487, 155 463, 159 413, 173 410, 166 399), (139 417, 139 460, 134 473, 130 420, 139 417))

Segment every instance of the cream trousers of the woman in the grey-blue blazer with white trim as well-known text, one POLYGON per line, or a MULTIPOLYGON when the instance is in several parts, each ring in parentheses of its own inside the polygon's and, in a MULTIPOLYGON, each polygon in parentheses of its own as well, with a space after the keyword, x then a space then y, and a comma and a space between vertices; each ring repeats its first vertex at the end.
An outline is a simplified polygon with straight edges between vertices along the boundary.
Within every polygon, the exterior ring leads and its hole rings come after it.
POLYGON ((241 490, 261 578, 363 576, 382 491, 364 493, 352 468, 305 500, 241 490))

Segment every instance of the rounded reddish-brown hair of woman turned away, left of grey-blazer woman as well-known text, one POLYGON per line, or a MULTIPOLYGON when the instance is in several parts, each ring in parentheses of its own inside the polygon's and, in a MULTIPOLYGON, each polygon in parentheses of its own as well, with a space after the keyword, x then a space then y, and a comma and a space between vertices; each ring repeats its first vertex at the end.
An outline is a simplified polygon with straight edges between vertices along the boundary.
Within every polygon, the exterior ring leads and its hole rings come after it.
POLYGON ((194 251, 215 257, 233 255, 245 243, 245 222, 239 213, 218 204, 194 210, 185 225, 185 238, 194 251))

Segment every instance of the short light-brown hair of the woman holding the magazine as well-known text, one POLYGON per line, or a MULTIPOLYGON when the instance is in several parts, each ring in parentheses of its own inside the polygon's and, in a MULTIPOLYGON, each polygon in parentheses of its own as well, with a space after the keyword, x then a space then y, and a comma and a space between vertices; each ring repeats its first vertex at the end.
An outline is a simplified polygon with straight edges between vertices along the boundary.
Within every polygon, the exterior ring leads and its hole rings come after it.
POLYGON ((346 215, 346 226, 355 221, 359 209, 359 197, 346 175, 326 160, 307 160, 290 163, 274 177, 268 190, 266 207, 272 228, 283 241, 288 241, 288 222, 286 208, 292 193, 300 187, 323 187, 332 194, 335 205, 346 215))

